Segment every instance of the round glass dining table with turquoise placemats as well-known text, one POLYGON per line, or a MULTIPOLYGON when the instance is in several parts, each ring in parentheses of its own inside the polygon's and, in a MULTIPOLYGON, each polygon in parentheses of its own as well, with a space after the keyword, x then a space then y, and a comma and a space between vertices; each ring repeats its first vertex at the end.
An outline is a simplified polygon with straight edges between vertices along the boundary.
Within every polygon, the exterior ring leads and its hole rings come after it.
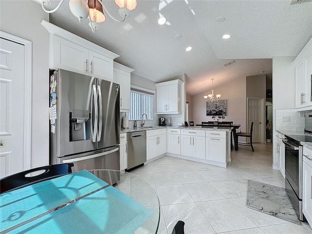
POLYGON ((0 195, 0 233, 157 233, 160 206, 143 178, 83 170, 0 195))

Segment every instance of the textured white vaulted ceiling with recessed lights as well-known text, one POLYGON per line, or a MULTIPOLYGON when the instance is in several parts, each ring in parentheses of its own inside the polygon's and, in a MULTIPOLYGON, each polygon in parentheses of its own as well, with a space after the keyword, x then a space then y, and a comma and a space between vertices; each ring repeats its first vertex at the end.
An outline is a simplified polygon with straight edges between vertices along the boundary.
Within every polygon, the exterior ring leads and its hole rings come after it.
MULTIPOLYGON (((58 2, 52 0, 52 7, 58 2)), ((312 37, 312 2, 138 0, 131 18, 119 23, 106 15, 95 34, 88 20, 78 22, 68 2, 50 14, 51 23, 120 55, 116 61, 138 76, 159 82, 185 73, 190 95, 210 90, 211 78, 216 88, 260 71, 271 74, 273 56, 296 56, 312 37), (157 24, 160 15, 168 19, 165 25, 157 24), (232 37, 225 40, 223 34, 232 37), (188 46, 193 49, 186 52, 188 46)), ((104 3, 118 18, 115 2, 104 3)))

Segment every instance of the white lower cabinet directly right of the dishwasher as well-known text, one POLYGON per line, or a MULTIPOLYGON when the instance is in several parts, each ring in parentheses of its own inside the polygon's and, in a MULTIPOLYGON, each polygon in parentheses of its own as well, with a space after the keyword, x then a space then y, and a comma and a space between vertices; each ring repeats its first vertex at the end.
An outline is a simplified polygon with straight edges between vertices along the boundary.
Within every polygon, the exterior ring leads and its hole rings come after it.
POLYGON ((146 160, 166 154, 167 137, 166 129, 156 129, 146 131, 146 160))

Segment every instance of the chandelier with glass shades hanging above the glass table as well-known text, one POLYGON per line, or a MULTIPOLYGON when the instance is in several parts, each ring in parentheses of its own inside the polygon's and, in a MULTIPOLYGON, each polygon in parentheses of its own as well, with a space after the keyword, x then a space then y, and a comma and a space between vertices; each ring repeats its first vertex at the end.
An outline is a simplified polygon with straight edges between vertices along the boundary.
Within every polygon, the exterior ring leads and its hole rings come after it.
MULTIPOLYGON (((64 0, 60 0, 57 7, 53 10, 47 10, 45 7, 51 5, 50 0, 34 0, 41 4, 42 9, 47 13, 56 12, 59 9, 59 6, 63 3, 64 0)), ((117 22, 123 22, 126 18, 131 16, 132 10, 137 7, 137 0, 115 0, 115 3, 119 7, 118 14, 122 17, 122 20, 115 19, 107 10, 106 6, 103 4, 102 0, 70 0, 69 8, 73 15, 77 17, 79 22, 81 20, 89 20, 89 26, 92 29, 92 32, 95 33, 97 29, 100 28, 98 23, 105 21, 105 16, 103 9, 109 17, 117 22)))

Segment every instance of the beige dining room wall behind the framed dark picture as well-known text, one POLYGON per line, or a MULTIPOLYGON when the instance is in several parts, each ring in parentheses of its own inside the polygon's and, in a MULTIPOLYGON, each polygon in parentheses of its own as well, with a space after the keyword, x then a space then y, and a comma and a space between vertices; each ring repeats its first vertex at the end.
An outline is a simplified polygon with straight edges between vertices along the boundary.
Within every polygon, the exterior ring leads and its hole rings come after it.
MULTIPOLYGON (((241 131, 246 131, 246 77, 236 78, 226 85, 214 87, 215 94, 221 94, 221 99, 227 100, 227 115, 224 121, 240 124, 241 131)), ((194 124, 202 121, 212 121, 206 116, 206 100, 204 95, 211 94, 211 90, 192 96, 192 115, 194 124)), ((191 120, 191 119, 190 119, 191 120)))

